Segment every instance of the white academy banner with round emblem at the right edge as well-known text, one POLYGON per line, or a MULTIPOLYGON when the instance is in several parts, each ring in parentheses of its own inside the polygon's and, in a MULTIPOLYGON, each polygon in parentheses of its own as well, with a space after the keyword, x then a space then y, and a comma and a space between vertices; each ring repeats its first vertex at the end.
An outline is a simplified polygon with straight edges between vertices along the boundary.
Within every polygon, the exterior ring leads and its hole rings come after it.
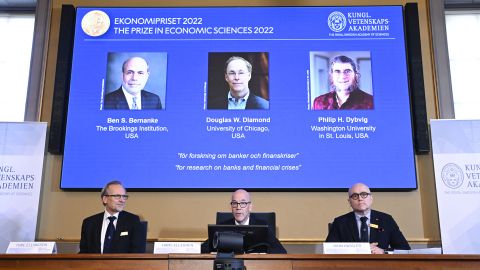
POLYGON ((431 120, 444 254, 480 254, 480 120, 431 120))

